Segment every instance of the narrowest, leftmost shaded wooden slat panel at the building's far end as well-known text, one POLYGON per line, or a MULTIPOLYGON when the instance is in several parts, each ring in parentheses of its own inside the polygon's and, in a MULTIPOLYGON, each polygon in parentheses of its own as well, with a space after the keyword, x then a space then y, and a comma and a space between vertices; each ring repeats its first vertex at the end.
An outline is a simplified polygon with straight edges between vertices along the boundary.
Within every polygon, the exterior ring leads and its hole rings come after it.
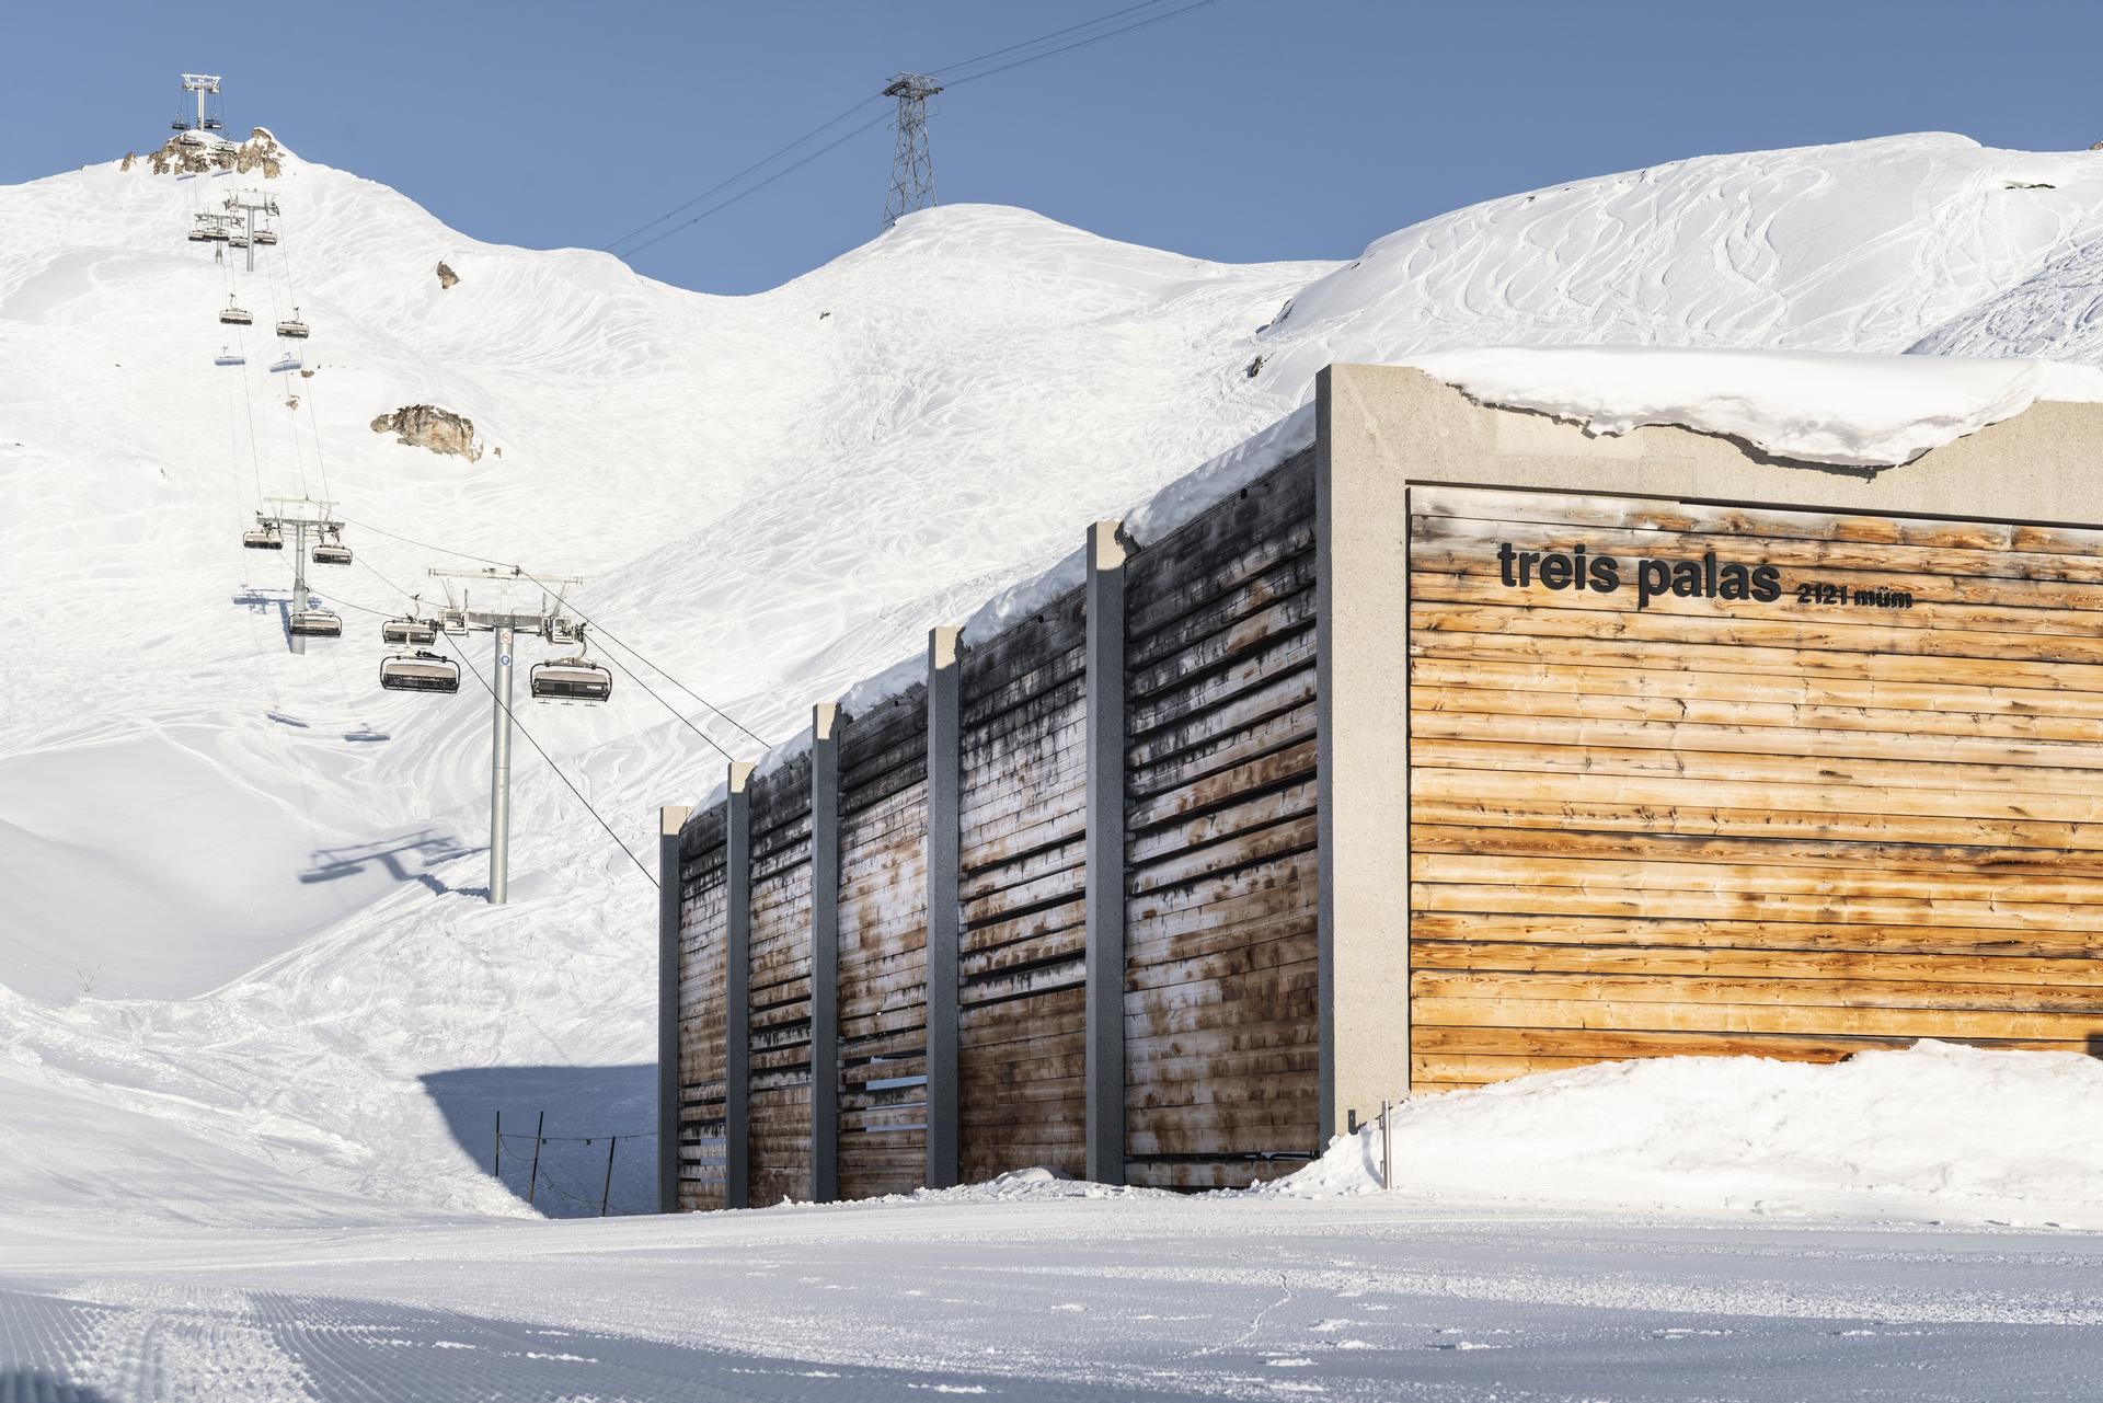
POLYGON ((679 1209, 723 1207, 723 810, 679 833, 679 1209))

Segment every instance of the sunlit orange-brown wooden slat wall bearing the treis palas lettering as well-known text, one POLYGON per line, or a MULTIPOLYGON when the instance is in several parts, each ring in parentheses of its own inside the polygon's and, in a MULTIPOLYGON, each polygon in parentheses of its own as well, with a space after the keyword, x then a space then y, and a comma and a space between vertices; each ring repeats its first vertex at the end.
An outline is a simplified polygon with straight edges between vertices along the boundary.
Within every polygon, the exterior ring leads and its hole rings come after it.
POLYGON ((1447 488, 1411 513, 1420 1090, 2103 1037, 2103 532, 1447 488), (1499 543, 1714 551, 1783 597, 1514 589, 1499 543))

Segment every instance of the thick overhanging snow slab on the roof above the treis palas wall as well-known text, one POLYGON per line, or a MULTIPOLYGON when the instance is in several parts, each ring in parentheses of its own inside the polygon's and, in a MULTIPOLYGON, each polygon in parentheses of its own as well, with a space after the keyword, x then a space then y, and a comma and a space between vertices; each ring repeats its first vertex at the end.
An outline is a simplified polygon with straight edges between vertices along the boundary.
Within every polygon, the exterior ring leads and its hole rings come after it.
POLYGON ((1893 467, 2038 400, 2103 402, 2103 370, 2048 360, 1495 347, 1409 364, 1485 404, 1594 433, 1685 425, 1809 463, 1893 467))

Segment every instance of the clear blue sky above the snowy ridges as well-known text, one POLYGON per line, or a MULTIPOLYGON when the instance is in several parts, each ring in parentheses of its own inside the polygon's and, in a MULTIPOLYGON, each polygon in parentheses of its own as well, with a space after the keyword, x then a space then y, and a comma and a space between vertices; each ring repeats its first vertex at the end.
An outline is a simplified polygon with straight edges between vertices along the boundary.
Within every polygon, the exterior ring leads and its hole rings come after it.
MULTIPOLYGON (((189 67, 225 76, 229 128, 456 229, 597 248, 898 69, 1129 2, 11 6, 0 181, 154 145, 189 67)), ((1346 259, 1474 200, 1706 151, 1931 128, 2086 147, 2099 46, 2103 6, 2071 0, 1216 0, 938 97, 936 191, 1209 259, 1346 259)), ((890 156, 879 124, 635 267, 774 286, 877 233, 890 156)))

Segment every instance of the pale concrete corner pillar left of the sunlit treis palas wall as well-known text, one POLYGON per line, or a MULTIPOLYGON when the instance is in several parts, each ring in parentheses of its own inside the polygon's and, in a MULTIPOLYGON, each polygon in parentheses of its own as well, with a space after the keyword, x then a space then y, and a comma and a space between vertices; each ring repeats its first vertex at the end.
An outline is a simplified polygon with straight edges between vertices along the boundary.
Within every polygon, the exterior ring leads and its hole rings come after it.
POLYGON ((1333 368, 1314 381, 1325 1136, 1409 1092, 1409 488, 1373 454, 1335 452, 1333 381, 1333 368))

